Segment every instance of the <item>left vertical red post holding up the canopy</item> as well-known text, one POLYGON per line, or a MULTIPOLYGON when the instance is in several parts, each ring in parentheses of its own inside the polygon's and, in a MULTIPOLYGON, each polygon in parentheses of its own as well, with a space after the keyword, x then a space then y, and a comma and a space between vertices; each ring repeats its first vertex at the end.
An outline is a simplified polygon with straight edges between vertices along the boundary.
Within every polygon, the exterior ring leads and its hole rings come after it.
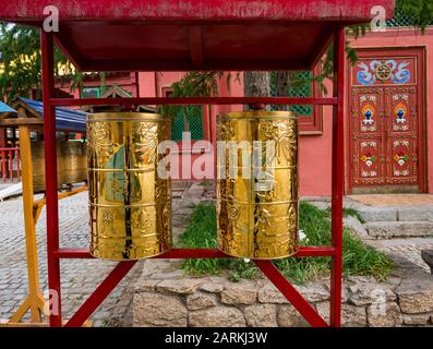
POLYGON ((50 104, 55 89, 53 36, 40 29, 40 48, 43 61, 43 103, 44 103, 44 141, 45 141, 45 180, 47 200, 47 257, 48 287, 51 296, 51 327, 60 327, 61 288, 60 261, 56 257, 59 249, 59 212, 57 197, 57 149, 56 149, 56 109, 50 104))

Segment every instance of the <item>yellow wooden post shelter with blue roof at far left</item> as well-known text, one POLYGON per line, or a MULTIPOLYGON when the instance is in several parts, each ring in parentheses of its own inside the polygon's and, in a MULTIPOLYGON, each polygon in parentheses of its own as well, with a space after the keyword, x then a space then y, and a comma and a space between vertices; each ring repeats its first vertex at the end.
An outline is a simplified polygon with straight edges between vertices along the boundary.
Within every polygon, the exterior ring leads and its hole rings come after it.
MULTIPOLYGON (((44 325, 41 314, 46 305, 46 300, 40 291, 37 243, 36 243, 36 222, 46 204, 46 200, 34 200, 33 186, 33 165, 31 131, 44 131, 43 104, 37 100, 16 98, 11 104, 16 113, 5 113, 0 116, 0 127, 17 128, 20 132, 20 151, 22 165, 22 185, 23 185, 23 207, 26 241, 26 258, 28 274, 28 297, 12 315, 11 320, 2 326, 28 326, 44 325), (20 323, 23 316, 31 311, 31 324, 20 323)), ((85 132, 86 113, 74 111, 68 108, 57 110, 58 131, 60 132, 85 132)), ((59 193, 58 198, 64 198, 87 190, 86 186, 79 188, 71 192, 59 193)))

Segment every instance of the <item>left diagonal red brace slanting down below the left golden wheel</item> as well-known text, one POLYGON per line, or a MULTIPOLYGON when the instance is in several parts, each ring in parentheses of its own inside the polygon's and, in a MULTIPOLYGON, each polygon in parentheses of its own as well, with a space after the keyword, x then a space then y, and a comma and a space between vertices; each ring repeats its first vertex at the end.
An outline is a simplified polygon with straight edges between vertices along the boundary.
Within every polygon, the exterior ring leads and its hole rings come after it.
POLYGON ((69 320, 65 327, 80 327, 100 305, 100 303, 110 294, 115 287, 131 270, 136 261, 120 262, 107 278, 99 284, 89 298, 80 306, 76 313, 69 320))

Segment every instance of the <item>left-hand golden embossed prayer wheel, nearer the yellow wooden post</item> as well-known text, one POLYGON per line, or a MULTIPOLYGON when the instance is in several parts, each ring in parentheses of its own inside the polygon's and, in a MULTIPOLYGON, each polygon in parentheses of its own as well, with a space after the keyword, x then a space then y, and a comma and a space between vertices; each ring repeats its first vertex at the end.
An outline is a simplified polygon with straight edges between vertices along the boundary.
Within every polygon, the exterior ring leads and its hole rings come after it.
POLYGON ((91 253, 124 261, 171 245, 171 189, 159 178, 158 144, 170 120, 154 113, 91 115, 87 121, 91 253))

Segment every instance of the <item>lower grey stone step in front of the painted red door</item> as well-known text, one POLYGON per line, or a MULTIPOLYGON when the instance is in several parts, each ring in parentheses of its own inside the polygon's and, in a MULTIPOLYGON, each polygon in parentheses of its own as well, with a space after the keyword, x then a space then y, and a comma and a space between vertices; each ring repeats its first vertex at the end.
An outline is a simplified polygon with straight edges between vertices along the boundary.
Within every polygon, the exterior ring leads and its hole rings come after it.
POLYGON ((376 238, 433 236, 433 221, 368 221, 369 236, 376 238))

